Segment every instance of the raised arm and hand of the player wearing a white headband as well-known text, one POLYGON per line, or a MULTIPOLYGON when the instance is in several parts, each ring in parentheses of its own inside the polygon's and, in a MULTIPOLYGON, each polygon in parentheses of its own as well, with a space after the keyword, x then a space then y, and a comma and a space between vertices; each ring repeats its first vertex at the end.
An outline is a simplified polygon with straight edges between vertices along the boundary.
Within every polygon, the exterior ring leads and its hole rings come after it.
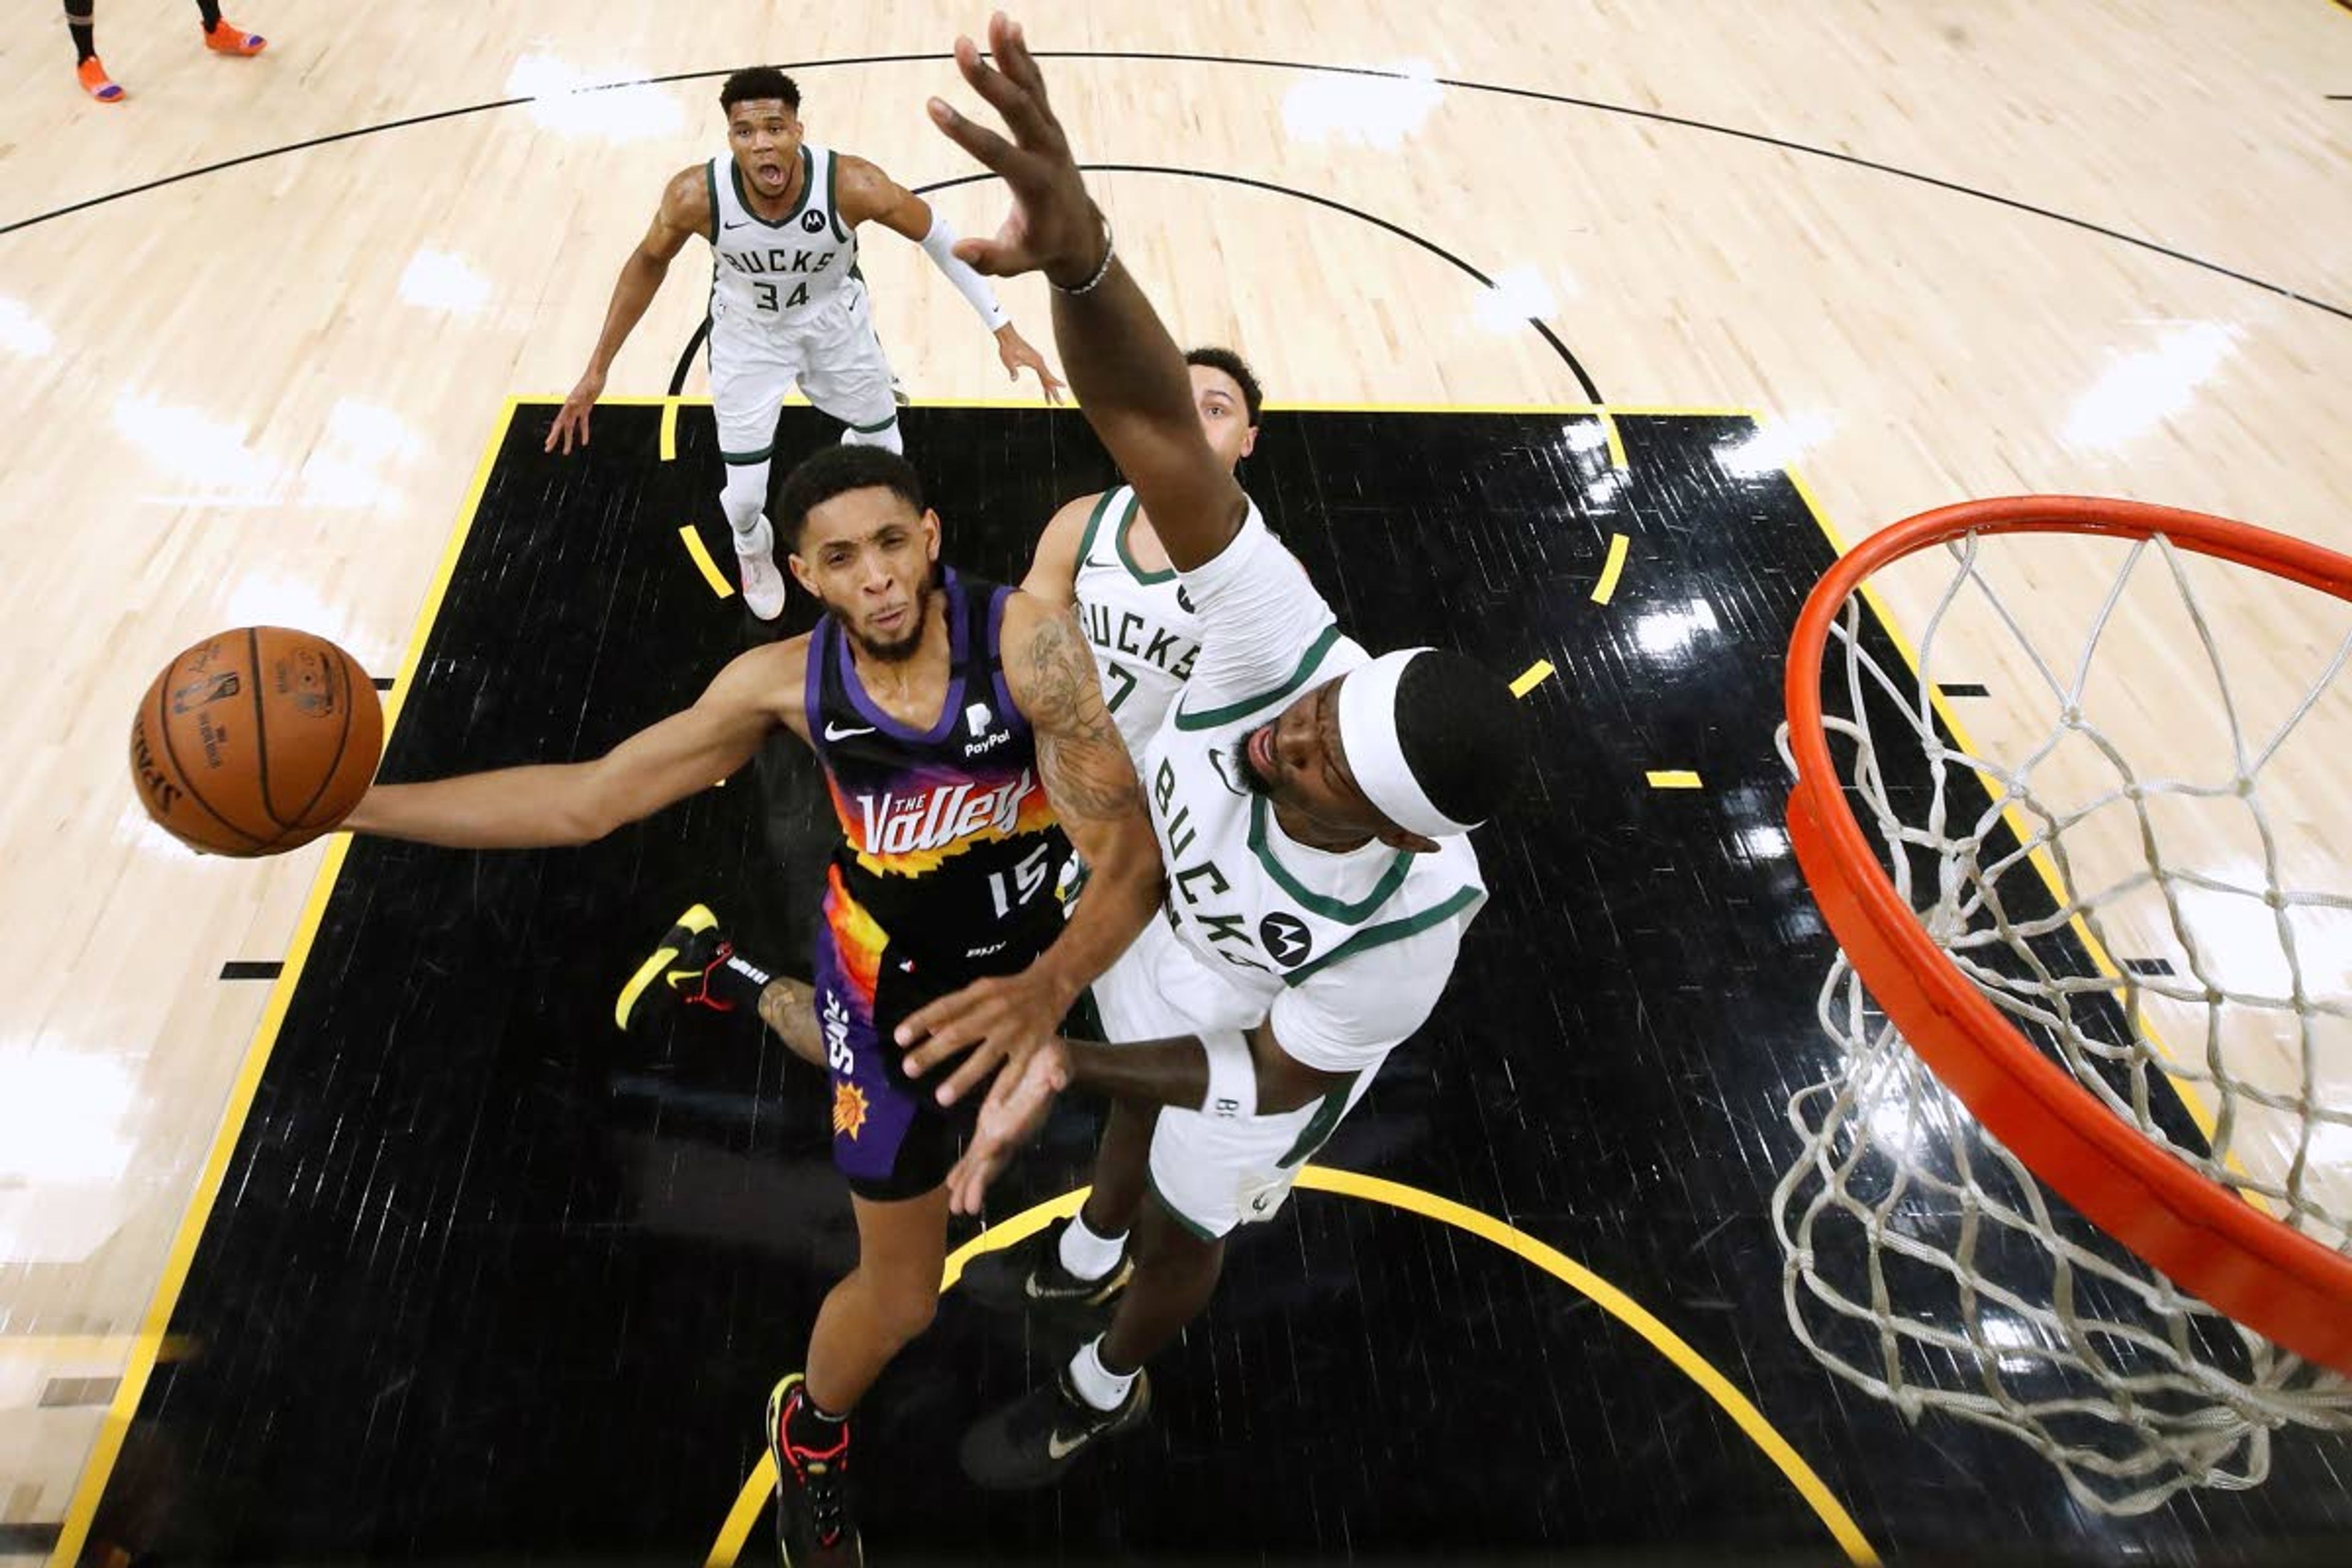
POLYGON ((1190 571, 1225 548, 1249 501, 1200 433, 1183 355, 1112 254, 1021 26, 997 14, 988 49, 1002 68, 983 63, 969 38, 955 40, 955 63, 1014 141, 943 99, 931 99, 931 120, 1004 176, 1014 209, 993 240, 962 240, 955 254, 981 273, 1042 270, 1054 284, 1054 346, 1077 404, 1136 487, 1169 559, 1190 571))

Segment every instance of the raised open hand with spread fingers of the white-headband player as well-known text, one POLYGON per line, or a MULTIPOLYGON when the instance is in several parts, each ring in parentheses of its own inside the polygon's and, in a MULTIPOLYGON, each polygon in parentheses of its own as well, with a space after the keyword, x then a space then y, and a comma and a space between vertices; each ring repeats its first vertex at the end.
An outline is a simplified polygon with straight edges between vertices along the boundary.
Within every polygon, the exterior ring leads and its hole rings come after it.
POLYGON ((1004 118, 1011 141, 955 113, 946 99, 931 99, 929 108, 948 141, 1004 176, 1014 209, 993 240, 957 240, 955 254, 976 273, 1044 273, 1075 289, 1103 263, 1103 219, 1087 197, 1070 143, 1044 101, 1044 78, 1030 59, 1021 24, 1007 21, 1004 12, 990 16, 988 52, 995 66, 981 61, 969 38, 957 38, 955 66, 1004 118))

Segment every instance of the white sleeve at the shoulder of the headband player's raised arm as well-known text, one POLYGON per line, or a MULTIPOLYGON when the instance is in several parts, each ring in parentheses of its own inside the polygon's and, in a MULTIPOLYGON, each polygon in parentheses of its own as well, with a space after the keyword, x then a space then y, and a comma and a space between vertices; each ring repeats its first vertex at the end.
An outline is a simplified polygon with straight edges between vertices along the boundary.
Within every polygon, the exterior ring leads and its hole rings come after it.
POLYGON ((1338 630, 1308 569, 1265 527, 1256 501, 1225 548, 1183 574, 1183 588, 1202 625, 1185 712, 1279 689, 1315 644, 1338 630))

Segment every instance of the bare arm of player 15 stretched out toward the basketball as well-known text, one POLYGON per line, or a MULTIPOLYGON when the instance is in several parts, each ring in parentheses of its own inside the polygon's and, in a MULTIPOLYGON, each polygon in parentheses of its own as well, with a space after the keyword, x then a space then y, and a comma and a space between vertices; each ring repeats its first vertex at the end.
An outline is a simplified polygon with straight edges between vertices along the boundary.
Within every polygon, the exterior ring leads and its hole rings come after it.
POLYGON ((727 778, 783 722, 779 705, 800 698, 807 639, 743 654, 710 689, 668 719, 595 762, 562 762, 463 773, 414 785, 376 785, 343 820, 353 832, 447 844, 452 849, 541 849, 590 844, 727 778))

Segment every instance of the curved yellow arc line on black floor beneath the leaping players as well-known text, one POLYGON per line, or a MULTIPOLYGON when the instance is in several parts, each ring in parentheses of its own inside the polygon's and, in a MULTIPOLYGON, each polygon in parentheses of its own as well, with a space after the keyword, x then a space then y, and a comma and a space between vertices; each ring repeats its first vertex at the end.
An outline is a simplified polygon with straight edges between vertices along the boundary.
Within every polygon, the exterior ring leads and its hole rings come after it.
MULTIPOLYGON (((1566 1253, 1536 1241, 1522 1229, 1496 1220, 1489 1213, 1479 1213, 1468 1204, 1456 1204, 1454 1199, 1442 1199, 1435 1192, 1423 1192, 1421 1187, 1406 1187, 1404 1182, 1390 1182, 1378 1175, 1359 1175, 1355 1171, 1334 1171, 1329 1166, 1301 1166, 1298 1185, 1312 1192, 1334 1192, 1338 1197, 1364 1199, 1371 1204, 1388 1204, 1390 1208, 1402 1208, 1404 1213, 1416 1213, 1425 1220, 1437 1220, 1439 1225, 1451 1225, 1465 1229, 1472 1237, 1494 1241, 1508 1253, 1524 1258, 1536 1265, 1559 1284, 1569 1286, 1595 1307, 1613 1316, 1616 1321, 1642 1335, 1651 1349, 1675 1363, 1684 1378, 1696 1382, 1700 1392, 1712 1399, 1731 1422, 1748 1434, 1757 1448, 1764 1450, 1797 1495, 1804 1497, 1806 1507, 1828 1526, 1830 1535, 1844 1549, 1846 1561, 1875 1566, 1879 1561, 1877 1549, 1863 1528, 1853 1523, 1853 1514, 1837 1500, 1837 1493, 1823 1483, 1813 1467, 1804 1462, 1804 1455, 1780 1436, 1764 1413, 1750 1403, 1738 1387, 1731 1385, 1715 1366, 1691 1349, 1689 1340, 1677 1335, 1663 1321, 1651 1316, 1642 1302, 1618 1291, 1613 1284, 1576 1262, 1566 1253)), ((1035 1208, 1023 1208, 1004 1225, 990 1225, 971 1241, 964 1241, 948 1255, 948 1267, 941 1269, 938 1291, 941 1295, 964 1276, 964 1265, 981 1253, 993 1253, 1000 1246, 1014 1246, 1023 1241, 1065 1213, 1077 1213, 1087 1201, 1087 1187, 1077 1192, 1063 1192, 1058 1199, 1047 1199, 1035 1208)), ((743 1481, 743 1490, 736 1493, 734 1507, 727 1512, 727 1523, 720 1528, 720 1537, 710 1544, 710 1556, 703 1559, 703 1568, 734 1568, 736 1556, 743 1552, 743 1542, 750 1540, 750 1528, 760 1519, 760 1509, 767 1505, 769 1493, 776 1490, 776 1460, 771 1455, 760 1455, 760 1465, 753 1467, 750 1476, 743 1481)))

